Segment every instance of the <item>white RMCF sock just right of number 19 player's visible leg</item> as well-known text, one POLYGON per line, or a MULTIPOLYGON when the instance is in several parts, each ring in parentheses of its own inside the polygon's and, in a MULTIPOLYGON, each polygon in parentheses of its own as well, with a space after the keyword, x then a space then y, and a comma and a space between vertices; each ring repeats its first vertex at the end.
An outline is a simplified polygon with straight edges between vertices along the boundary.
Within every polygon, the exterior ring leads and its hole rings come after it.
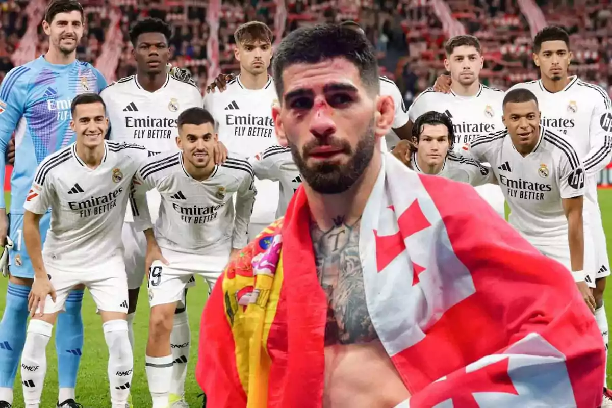
POLYGON ((185 395, 185 377, 187 377, 190 341, 191 331, 189 330, 187 311, 174 314, 172 332, 170 333, 170 347, 174 361, 170 393, 181 397, 185 395))

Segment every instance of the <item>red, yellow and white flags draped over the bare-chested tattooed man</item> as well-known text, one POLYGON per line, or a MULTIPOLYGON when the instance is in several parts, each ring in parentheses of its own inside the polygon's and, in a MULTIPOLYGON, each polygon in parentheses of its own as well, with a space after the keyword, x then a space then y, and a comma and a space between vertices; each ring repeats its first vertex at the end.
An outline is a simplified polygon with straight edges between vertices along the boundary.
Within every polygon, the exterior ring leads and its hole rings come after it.
MULTIPOLYGON (((300 187, 215 286, 196 368, 211 407, 322 406, 327 302, 309 217, 300 187)), ((572 277, 469 185, 385 154, 359 251, 371 320, 412 395, 402 406, 601 404, 605 349, 572 277)))

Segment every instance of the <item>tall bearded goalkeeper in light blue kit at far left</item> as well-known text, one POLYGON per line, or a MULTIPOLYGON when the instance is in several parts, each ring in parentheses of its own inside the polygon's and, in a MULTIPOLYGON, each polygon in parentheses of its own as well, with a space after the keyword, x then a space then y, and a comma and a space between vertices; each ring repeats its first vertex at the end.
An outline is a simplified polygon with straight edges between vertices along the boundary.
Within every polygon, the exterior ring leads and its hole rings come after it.
MULTIPOLYGON (((28 294, 34 269, 23 243, 23 203, 36 166, 74 141, 70 128, 70 102, 84 92, 99 92, 103 76, 87 62, 76 60, 76 46, 83 36, 83 7, 75 0, 55 0, 42 23, 49 36, 43 56, 12 69, 0 86, 0 179, 4 179, 4 153, 15 131, 16 162, 11 176, 10 231, 15 245, 10 251, 10 279, 6 308, 0 322, 0 407, 10 407, 13 382, 26 338, 28 294)), ((40 218, 43 239, 50 213, 40 218)), ((0 243, 4 243, 7 217, 0 195, 0 243)), ((58 354, 58 406, 76 407, 74 388, 83 349, 81 300, 83 290, 72 291, 64 313, 58 316, 55 338, 58 354)))

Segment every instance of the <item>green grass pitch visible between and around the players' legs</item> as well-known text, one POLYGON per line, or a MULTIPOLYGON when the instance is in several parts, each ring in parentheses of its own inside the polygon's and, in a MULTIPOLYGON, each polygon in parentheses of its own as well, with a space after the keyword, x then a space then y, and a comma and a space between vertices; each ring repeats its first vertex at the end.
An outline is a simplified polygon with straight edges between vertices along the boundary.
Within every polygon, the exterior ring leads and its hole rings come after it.
MULTIPOLYGON (((599 202, 603 214, 603 226, 608 237, 608 253, 612 253, 612 190, 599 190, 599 202)), ((0 278, 0 311, 4 310, 7 280, 0 278)), ((195 381, 195 363, 197 358, 197 344, 200 326, 200 316, 206 302, 206 283, 198 280, 196 287, 189 291, 187 296, 187 310, 189 323, 192 328, 192 348, 188 365, 187 384, 185 384, 185 399, 192 408, 201 407, 201 400, 197 398, 201 393, 195 381)), ((612 305, 612 289, 606 291, 606 305, 612 305)), ((608 312, 612 317, 612 309, 608 312)), ((83 322, 85 327, 85 344, 83 358, 76 386, 76 400, 85 408, 99 408, 108 406, 109 392, 106 380, 106 362, 108 351, 102 334, 100 317, 95 314, 95 305, 91 297, 86 294, 83 298, 83 322)), ((144 351, 147 341, 147 326, 149 322, 149 302, 146 290, 141 290, 134 323, 135 347, 134 351, 134 377, 132 382, 132 398, 136 408, 151 407, 151 397, 147 387, 144 373, 144 351)), ((47 347, 47 379, 41 406, 54 407, 57 401, 58 378, 57 358, 55 354, 54 339, 47 347)), ((612 366, 608 365, 608 373, 612 366)), ((15 382, 15 404, 13 408, 23 408, 21 397, 20 376, 17 374, 15 382)))

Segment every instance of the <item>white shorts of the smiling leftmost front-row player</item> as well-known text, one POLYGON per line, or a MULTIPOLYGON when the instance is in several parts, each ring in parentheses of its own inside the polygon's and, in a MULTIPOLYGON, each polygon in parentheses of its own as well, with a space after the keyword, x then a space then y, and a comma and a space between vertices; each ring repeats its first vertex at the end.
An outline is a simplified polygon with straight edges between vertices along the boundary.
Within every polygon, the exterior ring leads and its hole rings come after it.
POLYGON ((64 310, 68 294, 78 284, 84 284, 99 310, 127 313, 127 276, 121 255, 111 256, 85 270, 64 270, 45 262, 45 269, 55 289, 55 302, 51 296, 45 300, 43 313, 64 310))

